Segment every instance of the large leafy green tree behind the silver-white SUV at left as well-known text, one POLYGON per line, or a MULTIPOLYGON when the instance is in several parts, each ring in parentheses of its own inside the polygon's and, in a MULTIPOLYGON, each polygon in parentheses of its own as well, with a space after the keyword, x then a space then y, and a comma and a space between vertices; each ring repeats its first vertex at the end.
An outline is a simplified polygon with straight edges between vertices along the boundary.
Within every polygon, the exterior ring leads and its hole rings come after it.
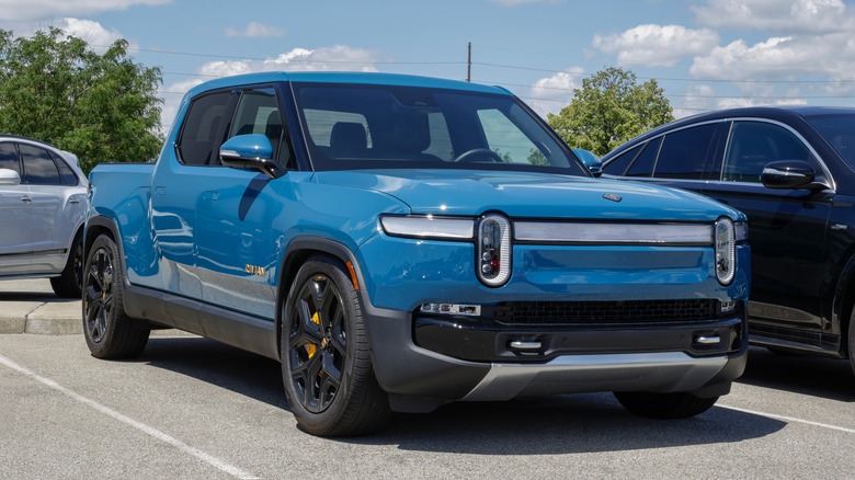
POLYGON ((0 30, 0 132, 48 141, 102 161, 157 157, 162 84, 159 67, 135 64, 118 39, 103 54, 59 28, 30 38, 0 30))

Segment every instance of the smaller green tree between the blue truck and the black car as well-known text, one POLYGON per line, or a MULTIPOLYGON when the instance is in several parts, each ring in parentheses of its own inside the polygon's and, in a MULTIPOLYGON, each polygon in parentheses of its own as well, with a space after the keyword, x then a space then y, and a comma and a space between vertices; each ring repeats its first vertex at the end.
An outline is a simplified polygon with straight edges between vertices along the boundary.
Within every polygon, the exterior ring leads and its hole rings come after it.
POLYGON ((674 119, 671 104, 656 80, 638 84, 636 75, 606 68, 582 80, 582 88, 549 125, 573 148, 603 156, 650 128, 674 119))

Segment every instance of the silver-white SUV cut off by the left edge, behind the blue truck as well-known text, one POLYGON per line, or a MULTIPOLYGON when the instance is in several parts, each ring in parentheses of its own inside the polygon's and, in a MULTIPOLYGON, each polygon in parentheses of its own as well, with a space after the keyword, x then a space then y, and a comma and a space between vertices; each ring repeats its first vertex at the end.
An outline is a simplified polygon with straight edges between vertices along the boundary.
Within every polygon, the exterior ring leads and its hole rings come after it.
POLYGON ((81 297, 89 182, 78 159, 24 137, 0 135, 0 277, 50 277, 60 297, 81 297))

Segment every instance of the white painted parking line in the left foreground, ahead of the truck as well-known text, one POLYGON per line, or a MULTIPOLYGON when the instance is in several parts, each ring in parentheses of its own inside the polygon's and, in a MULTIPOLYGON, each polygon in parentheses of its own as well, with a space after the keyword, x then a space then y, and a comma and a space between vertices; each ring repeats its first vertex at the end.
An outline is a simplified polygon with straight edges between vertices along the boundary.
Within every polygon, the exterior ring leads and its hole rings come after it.
POLYGON ((27 377, 30 377, 30 378, 41 382, 41 384, 47 386, 48 388, 52 388, 52 389, 54 389, 54 390, 56 390, 56 391, 58 391, 60 393, 64 393, 64 395, 66 395, 68 397, 71 397, 72 399, 79 401, 80 403, 87 404, 87 405, 98 410, 101 413, 110 415, 113 419, 118 420, 122 423, 130 425, 134 428, 137 428, 137 430, 139 430, 139 431, 141 431, 141 432, 144 432, 144 433, 146 433, 146 434, 148 434, 148 435, 150 435, 150 436, 161 441, 161 442, 164 442, 164 443, 167 443, 169 445, 172 445, 173 447, 184 452, 185 454, 190 454, 190 455, 198 458, 200 460, 210 465, 212 467, 217 468, 219 470, 223 470, 226 473, 228 473, 228 475, 230 475, 230 476, 232 476, 235 478, 238 478, 238 479, 241 479, 241 480, 254 480, 254 479, 259 478, 259 477, 253 476, 252 473, 248 473, 248 472, 241 470, 238 467, 235 467, 233 465, 229 465, 228 462, 226 462, 224 460, 220 460, 220 459, 218 459, 218 458, 216 458, 216 457, 214 457, 212 455, 208 455, 208 454, 200 450, 198 448, 194 448, 194 447, 185 444, 184 442, 181 442, 180 439, 178 439, 175 437, 167 435, 166 433, 163 433, 163 432, 161 432, 161 431, 159 431, 159 430, 157 430, 157 428, 155 428, 152 426, 146 425, 145 423, 137 422, 136 420, 134 420, 134 419, 132 419, 129 416, 123 415, 122 413, 118 413, 117 411, 115 411, 115 410, 113 410, 113 409, 111 409, 109 407, 104 407, 104 405, 102 405, 101 403, 99 403, 99 402, 96 402, 94 400, 88 399, 88 398, 86 398, 86 397, 83 397, 83 396, 81 396, 81 395, 79 395, 79 393, 77 393, 75 391, 71 391, 71 390, 62 387, 61 385, 57 384, 56 381, 54 381, 54 380, 52 380, 49 378, 45 378, 45 377, 42 377, 41 375, 34 374, 33 372, 22 367, 21 365, 18 365, 16 363, 14 363, 11 359, 4 357, 3 355, 0 355, 0 364, 5 365, 7 367, 9 367, 11 369, 21 373, 21 374, 23 374, 23 375, 25 375, 25 376, 27 376, 27 377))

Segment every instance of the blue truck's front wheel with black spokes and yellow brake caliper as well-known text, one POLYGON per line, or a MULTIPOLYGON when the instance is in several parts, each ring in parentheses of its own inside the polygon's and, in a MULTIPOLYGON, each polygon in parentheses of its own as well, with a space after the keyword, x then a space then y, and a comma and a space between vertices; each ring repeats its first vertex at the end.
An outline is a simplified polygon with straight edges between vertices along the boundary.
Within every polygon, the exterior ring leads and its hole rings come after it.
POLYGON ((282 309, 282 379, 290 412, 318 436, 367 435, 391 418, 377 384, 357 292, 344 265, 310 258, 282 309))

